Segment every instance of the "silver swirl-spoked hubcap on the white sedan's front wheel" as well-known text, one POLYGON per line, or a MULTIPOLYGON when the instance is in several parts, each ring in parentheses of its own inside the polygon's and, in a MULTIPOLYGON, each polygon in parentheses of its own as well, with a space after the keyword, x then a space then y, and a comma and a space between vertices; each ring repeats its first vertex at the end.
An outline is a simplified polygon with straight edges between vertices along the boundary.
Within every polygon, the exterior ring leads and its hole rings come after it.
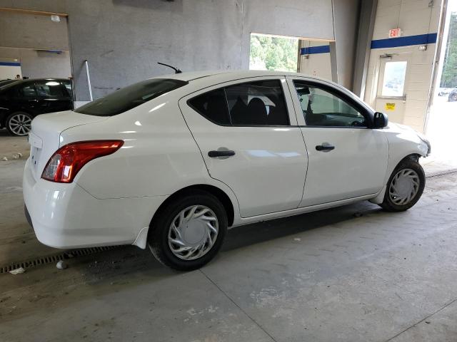
POLYGON ((416 197, 420 183, 421 180, 416 171, 411 169, 400 170, 393 176, 388 195, 394 204, 408 204, 416 197))

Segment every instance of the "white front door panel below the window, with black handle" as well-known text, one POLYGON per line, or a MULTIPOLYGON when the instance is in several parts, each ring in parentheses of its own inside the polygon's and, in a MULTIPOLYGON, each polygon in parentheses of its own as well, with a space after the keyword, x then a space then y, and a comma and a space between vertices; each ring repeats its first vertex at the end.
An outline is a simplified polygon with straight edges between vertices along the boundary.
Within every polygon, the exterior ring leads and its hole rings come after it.
POLYGON ((388 149, 383 133, 369 128, 302 128, 308 174, 300 207, 370 195, 383 187, 388 149), (333 150, 318 151, 328 145, 333 150))

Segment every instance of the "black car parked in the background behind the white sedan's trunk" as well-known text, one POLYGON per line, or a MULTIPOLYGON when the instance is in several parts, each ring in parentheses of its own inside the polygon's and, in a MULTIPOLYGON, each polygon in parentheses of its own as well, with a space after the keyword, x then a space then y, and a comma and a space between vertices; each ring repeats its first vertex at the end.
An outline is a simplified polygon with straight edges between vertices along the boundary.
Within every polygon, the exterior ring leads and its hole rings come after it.
POLYGON ((73 109, 68 78, 40 78, 0 84, 0 127, 12 135, 27 135, 39 114, 73 109))

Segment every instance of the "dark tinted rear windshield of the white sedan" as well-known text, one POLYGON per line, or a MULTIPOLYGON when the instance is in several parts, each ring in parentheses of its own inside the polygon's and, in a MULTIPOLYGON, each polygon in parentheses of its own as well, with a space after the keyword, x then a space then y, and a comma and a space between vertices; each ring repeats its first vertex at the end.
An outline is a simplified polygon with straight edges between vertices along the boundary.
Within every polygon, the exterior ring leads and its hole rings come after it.
POLYGON ((124 113, 153 98, 187 84, 186 81, 154 78, 132 84, 74 110, 76 113, 96 116, 113 116, 124 113))

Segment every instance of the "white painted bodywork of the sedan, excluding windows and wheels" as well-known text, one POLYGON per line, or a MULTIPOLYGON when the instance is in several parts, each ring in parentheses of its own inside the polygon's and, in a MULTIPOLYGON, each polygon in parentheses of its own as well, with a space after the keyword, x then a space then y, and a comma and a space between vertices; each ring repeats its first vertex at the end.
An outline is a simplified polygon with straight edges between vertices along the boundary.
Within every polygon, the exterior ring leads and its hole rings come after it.
MULTIPOLYGON (((24 202, 38 239, 59 248, 114 244, 145 248, 149 224, 161 204, 186 187, 200 185, 229 197, 232 227, 362 199, 376 202, 398 162, 411 154, 427 155, 428 147, 416 133, 392 123, 378 130, 331 128, 322 133, 323 128, 301 127, 303 115, 290 80, 284 87, 290 127, 227 128, 211 124, 186 105, 198 93, 240 80, 298 77, 303 75, 181 73, 161 78, 189 81, 188 85, 119 115, 39 115, 32 123, 31 157, 23 181, 24 202), (59 147, 101 139, 124 140, 124 145, 84 165, 74 182, 41 179, 59 147), (312 150, 313 144, 326 140, 341 146, 341 153, 312 150), (236 150, 236 158, 209 158, 207 152, 218 147, 236 150), (341 177, 334 177, 332 168, 342 170, 341 177), (336 187, 338 192, 333 191, 336 187)), ((361 103, 341 86, 305 79, 331 85, 361 103)))

